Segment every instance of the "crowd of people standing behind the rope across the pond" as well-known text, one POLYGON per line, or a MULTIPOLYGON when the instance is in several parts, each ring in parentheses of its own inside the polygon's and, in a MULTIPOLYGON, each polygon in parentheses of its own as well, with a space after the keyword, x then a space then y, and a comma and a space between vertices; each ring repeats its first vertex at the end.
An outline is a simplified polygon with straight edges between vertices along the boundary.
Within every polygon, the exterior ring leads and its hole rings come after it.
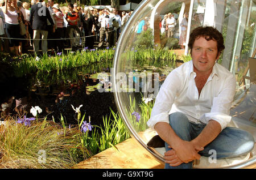
POLYGON ((79 45, 90 50, 96 41, 98 49, 104 47, 104 42, 114 46, 132 13, 123 11, 120 16, 115 8, 82 8, 76 3, 60 7, 54 0, 1 0, 0 6, 0 37, 4 37, 0 50, 12 55, 22 55, 30 46, 36 54, 40 49, 42 53, 60 53, 64 45, 71 52, 79 45))

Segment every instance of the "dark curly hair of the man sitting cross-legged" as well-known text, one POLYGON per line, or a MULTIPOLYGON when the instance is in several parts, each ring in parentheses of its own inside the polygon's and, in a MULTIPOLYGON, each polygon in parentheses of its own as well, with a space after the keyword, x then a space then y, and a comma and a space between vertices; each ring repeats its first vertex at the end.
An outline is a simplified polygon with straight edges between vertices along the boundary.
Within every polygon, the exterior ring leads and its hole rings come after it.
POLYGON ((200 37, 205 37, 205 40, 209 41, 209 40, 214 40, 217 42, 217 48, 218 48, 218 54, 222 52, 222 50, 225 49, 224 46, 224 38, 222 36, 222 34, 213 27, 210 26, 206 26, 206 27, 197 27, 195 28, 190 36, 189 36, 189 42, 188 42, 188 47, 189 49, 191 49, 192 53, 192 48, 193 48, 193 44, 195 42, 195 40, 197 38, 200 37))

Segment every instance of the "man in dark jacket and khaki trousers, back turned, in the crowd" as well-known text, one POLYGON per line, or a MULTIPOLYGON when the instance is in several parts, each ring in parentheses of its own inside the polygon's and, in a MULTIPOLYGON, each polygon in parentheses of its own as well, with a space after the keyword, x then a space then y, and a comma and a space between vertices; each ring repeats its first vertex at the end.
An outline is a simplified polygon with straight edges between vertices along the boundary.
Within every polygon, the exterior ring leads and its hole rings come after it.
POLYGON ((48 51, 46 40, 48 36, 48 31, 46 30, 47 19, 54 25, 48 8, 42 2, 43 0, 38 0, 38 3, 32 5, 30 10, 30 24, 32 24, 32 29, 34 29, 33 46, 36 54, 39 52, 39 40, 35 39, 39 39, 40 35, 42 35, 42 52, 47 53, 48 51))

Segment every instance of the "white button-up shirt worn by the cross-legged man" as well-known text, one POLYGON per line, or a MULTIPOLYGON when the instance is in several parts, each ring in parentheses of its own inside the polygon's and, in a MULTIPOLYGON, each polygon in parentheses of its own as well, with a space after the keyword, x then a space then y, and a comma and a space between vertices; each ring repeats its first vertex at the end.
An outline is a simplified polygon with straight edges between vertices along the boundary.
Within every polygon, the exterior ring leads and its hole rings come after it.
POLYGON ((236 78, 218 63, 213 66, 200 96, 195 83, 192 60, 171 71, 156 96, 148 127, 169 122, 169 114, 181 112, 189 121, 207 124, 210 119, 220 123, 221 130, 231 120, 230 108, 236 92, 236 78))

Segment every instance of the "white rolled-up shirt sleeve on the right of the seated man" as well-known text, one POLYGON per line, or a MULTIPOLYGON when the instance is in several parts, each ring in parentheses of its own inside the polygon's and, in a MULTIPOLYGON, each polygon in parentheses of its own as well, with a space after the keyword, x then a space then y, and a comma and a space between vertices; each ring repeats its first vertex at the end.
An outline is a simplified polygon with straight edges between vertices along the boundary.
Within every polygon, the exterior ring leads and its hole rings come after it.
POLYGON ((206 123, 210 120, 217 121, 221 125, 221 131, 228 125, 231 120, 230 108, 234 94, 236 93, 236 78, 233 75, 225 79, 224 87, 217 97, 213 98, 213 105, 210 113, 205 113, 206 123))

